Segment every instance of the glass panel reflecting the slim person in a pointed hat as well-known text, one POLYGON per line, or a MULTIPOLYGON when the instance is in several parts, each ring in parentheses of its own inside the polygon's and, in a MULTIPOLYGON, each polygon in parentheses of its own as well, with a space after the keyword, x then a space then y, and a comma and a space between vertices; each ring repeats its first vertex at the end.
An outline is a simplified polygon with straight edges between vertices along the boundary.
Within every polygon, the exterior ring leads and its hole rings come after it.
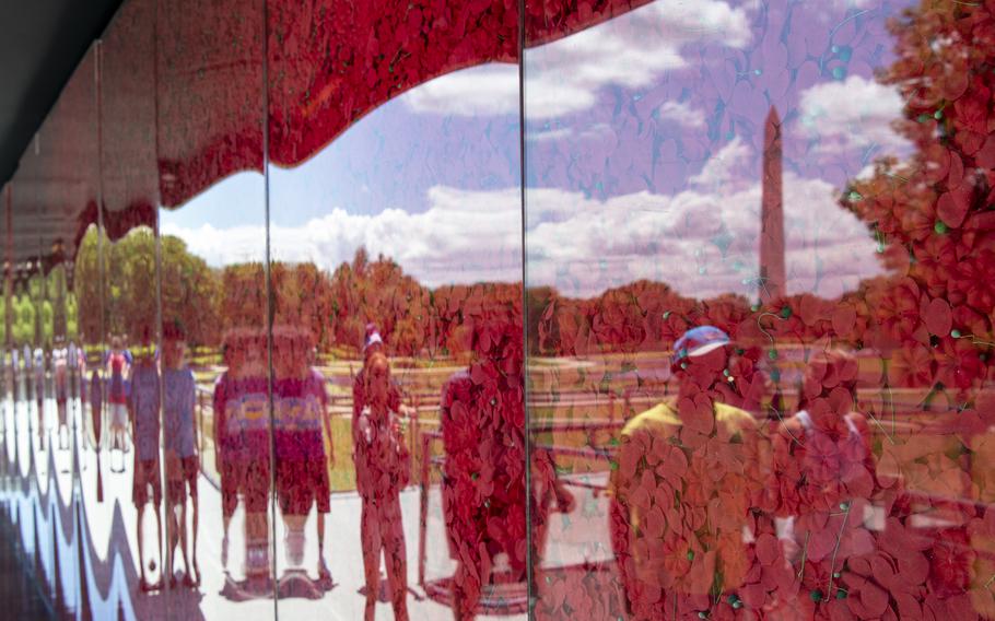
POLYGON ((269 17, 279 613, 524 618, 514 7, 269 17))

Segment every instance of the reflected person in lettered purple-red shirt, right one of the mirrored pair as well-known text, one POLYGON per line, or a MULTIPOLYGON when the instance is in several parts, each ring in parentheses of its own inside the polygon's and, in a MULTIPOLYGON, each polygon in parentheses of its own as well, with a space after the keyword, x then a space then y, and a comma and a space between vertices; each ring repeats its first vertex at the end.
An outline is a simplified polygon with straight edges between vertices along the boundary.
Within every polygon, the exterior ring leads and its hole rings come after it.
POLYGON ((318 578, 327 583, 331 574, 325 563, 325 517, 331 503, 324 433, 331 437, 331 430, 325 377, 309 364, 312 343, 306 330, 277 328, 273 347, 277 494, 286 522, 286 553, 291 566, 301 564, 304 525, 317 503, 318 578))

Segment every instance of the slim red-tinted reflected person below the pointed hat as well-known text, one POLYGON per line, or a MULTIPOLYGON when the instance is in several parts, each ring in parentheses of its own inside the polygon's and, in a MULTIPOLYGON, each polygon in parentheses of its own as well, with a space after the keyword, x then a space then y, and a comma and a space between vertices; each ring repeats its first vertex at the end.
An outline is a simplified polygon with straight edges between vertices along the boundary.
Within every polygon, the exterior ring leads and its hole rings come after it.
POLYGON ((366 579, 366 621, 374 618, 379 591, 381 552, 395 619, 408 619, 408 563, 401 522, 400 491, 410 479, 410 462, 398 412, 390 407, 390 365, 383 353, 370 356, 364 374, 366 403, 355 423, 356 488, 363 499, 361 537, 366 579))

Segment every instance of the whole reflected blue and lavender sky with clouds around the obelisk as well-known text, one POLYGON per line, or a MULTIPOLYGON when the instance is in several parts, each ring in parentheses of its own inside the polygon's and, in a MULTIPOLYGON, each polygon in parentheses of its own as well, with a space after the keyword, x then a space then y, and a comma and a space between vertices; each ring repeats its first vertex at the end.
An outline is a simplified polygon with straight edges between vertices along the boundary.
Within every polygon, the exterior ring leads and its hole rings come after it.
MULTIPOLYGON (((525 57, 530 284, 590 295, 637 278, 752 296, 763 122, 784 134, 788 290, 832 297, 878 272, 846 179, 909 145, 891 130, 888 16, 904 2, 657 1, 525 57)), ((273 256, 335 268, 359 246, 429 285, 520 280, 518 70, 465 69, 270 171, 273 256)), ((212 265, 261 259, 261 175, 163 216, 212 265), (223 246, 218 243, 223 236, 223 246)))

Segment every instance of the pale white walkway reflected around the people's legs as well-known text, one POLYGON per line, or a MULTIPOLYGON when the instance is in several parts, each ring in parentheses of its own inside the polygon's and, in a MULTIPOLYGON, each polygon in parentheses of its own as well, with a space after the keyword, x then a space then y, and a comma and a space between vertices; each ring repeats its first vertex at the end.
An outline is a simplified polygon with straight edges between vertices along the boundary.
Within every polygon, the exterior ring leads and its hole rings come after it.
MULTIPOLYGON (((79 412, 79 403, 74 405, 79 412)), ((89 607, 95 611, 126 619, 271 619, 274 614, 284 618, 321 618, 321 619, 360 619, 362 618, 364 598, 358 593, 363 586, 362 549, 360 544, 360 499, 354 493, 335 494, 331 500, 331 513, 326 522, 325 559, 333 579, 335 588, 324 593, 320 599, 300 597, 283 598, 276 602, 272 599, 235 601, 223 595, 225 574, 221 564, 222 516, 220 492, 201 476, 200 526, 198 541, 198 560, 202 573, 202 584, 197 589, 177 587, 153 594, 141 594, 137 586, 138 541, 136 535, 137 511, 131 502, 131 458, 125 455, 124 472, 120 468, 121 455, 113 456, 102 452, 99 455, 99 474, 103 484, 103 502, 97 500, 97 455, 82 441, 82 433, 75 434, 75 442, 67 436, 58 447, 58 436, 54 429, 56 423, 55 402, 45 405, 43 434, 45 446, 38 434, 38 418, 34 402, 20 401, 13 407, 5 401, 3 423, 7 445, 7 457, 16 456, 17 472, 14 479, 22 480, 21 489, 27 493, 4 492, 4 500, 19 504, 17 515, 21 538, 26 541, 28 553, 34 553, 34 546, 39 547, 40 564, 49 583, 59 574, 59 582, 67 595, 62 597, 68 609, 80 606, 82 595, 69 593, 80 590, 79 567, 85 565, 90 573, 99 573, 99 566, 107 574, 112 586, 107 593, 89 589, 89 607), (16 445, 16 446, 15 446, 16 445), (78 466, 74 466, 74 458, 78 466), (114 464, 112 464, 112 460, 114 464), (34 470, 32 472, 32 469, 34 470), (78 484, 73 484, 78 474, 78 484), (37 488, 26 480, 37 481, 37 488), (34 491, 33 491, 34 490, 34 491), (77 503, 72 503, 75 490, 77 503), (61 508, 59 508, 61 507, 61 508), (67 508, 69 507, 69 508, 67 508), (77 511, 79 509, 79 511, 77 511), (65 514, 65 515, 63 515, 65 514), (94 558, 91 561, 79 561, 84 555, 79 552, 79 541, 70 522, 73 515, 85 523, 85 548, 94 558), (68 517, 67 517, 68 516, 68 517), (58 526, 54 524, 58 523, 58 526), (66 539, 51 534, 61 529, 69 534, 66 539), (33 535, 33 532, 35 535, 33 535), (44 536, 38 536, 42 532, 44 536), (37 543, 34 541, 37 540, 37 543), (57 552, 54 550, 58 549, 57 552), (58 558, 58 561, 56 560, 58 558), (58 564, 57 564, 58 563, 58 564), (71 588, 67 588, 71 587, 71 588)), ((73 417, 74 418, 74 417, 73 417)), ((79 426, 77 427, 80 429, 79 426)), ((589 480, 587 481, 590 482, 589 480)), ((610 544, 607 535, 607 506, 604 495, 593 495, 586 488, 573 488, 577 495, 574 512, 569 516, 552 516, 549 544, 547 546, 546 566, 551 572, 563 567, 577 567, 587 563, 609 561, 610 544), (553 567, 560 567, 555 570, 553 567)), ((418 586, 419 551, 419 501, 418 488, 410 488, 402 493, 401 509, 407 539, 409 585, 413 593, 409 595, 409 612, 412 619, 452 619, 452 611, 444 604, 423 597, 424 591, 418 586)), ((444 520, 437 488, 430 492, 429 516, 426 520, 426 563, 425 576, 429 582, 452 575, 454 563, 448 559, 445 543, 444 520)), ((151 507, 150 507, 151 508, 151 507)), ((189 514, 189 512, 188 512, 189 514)), ((153 512, 145 512, 147 538, 145 565, 157 556, 154 554, 154 517, 153 512)), ((189 516, 188 516, 189 517, 189 516)), ((307 519, 307 547, 303 567, 312 578, 317 577, 317 514, 312 512, 307 519)), ((277 575, 284 575, 286 560, 284 553, 284 526, 278 516, 276 520, 277 575)), ((239 506, 233 518, 230 534, 229 567, 233 577, 242 577, 244 562, 244 514, 239 506)), ((179 554, 176 558, 177 572, 183 572, 179 554)), ((155 570, 149 572, 151 581, 160 578, 161 563, 155 558, 155 570)), ((101 582, 96 579, 95 582, 101 582)), ((97 614, 104 618, 104 614, 97 614)), ((391 619, 389 605, 381 604, 377 619, 391 619)), ((503 619, 525 619, 525 614, 506 616, 503 619)), ((581 613, 577 619, 583 619, 581 613)))

